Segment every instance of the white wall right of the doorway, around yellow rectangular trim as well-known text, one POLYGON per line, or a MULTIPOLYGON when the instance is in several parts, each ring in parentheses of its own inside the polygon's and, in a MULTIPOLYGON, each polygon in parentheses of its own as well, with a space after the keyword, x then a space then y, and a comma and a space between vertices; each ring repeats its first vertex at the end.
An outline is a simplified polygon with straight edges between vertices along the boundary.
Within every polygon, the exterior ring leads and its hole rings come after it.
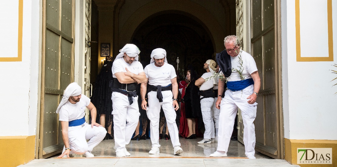
MULTIPOLYGON (((317 2, 300 1, 301 57, 328 57, 327 2, 317 2)), ((337 81, 330 82, 337 77, 330 71, 337 69, 332 66, 337 64, 337 1, 332 1, 334 61, 312 62, 296 60, 295 1, 281 3, 284 137, 337 140, 337 86, 332 86, 337 81)))

